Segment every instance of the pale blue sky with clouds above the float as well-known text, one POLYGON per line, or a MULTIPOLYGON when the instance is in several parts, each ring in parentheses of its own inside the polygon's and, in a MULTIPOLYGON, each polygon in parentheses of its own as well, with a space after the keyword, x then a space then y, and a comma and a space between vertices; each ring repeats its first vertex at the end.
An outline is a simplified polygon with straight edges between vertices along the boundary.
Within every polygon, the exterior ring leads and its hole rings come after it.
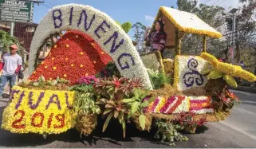
MULTIPOLYGON (((225 8, 236 7, 238 0, 198 0, 199 3, 207 5, 219 5, 225 8)), ((148 26, 152 25, 160 6, 175 6, 176 0, 45 0, 45 3, 37 6, 35 4, 33 22, 39 23, 53 6, 77 3, 93 6, 94 8, 108 14, 114 20, 124 23, 141 22, 148 26)), ((132 37, 132 29, 128 33, 132 37)))

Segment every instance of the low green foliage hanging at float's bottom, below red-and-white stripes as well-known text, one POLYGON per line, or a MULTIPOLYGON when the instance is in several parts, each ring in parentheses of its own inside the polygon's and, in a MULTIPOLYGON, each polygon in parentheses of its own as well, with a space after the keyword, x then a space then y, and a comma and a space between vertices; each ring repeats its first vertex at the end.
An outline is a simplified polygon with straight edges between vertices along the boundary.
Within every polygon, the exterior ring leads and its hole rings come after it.
POLYGON ((184 127, 179 124, 171 124, 162 120, 156 120, 156 128, 158 129, 155 134, 155 139, 160 139, 161 143, 175 146, 177 141, 187 141, 187 137, 179 133, 184 127))

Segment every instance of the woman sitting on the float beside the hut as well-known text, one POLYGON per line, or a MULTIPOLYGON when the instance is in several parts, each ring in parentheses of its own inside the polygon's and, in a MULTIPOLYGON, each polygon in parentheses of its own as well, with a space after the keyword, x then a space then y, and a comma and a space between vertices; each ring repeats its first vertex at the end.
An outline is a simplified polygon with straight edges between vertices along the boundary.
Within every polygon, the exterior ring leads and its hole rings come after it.
POLYGON ((146 46, 149 46, 148 49, 150 52, 160 51, 163 57, 163 49, 166 45, 167 34, 163 30, 164 22, 160 19, 156 22, 155 29, 152 33, 149 33, 150 27, 146 30, 144 35, 144 41, 146 42, 146 46))

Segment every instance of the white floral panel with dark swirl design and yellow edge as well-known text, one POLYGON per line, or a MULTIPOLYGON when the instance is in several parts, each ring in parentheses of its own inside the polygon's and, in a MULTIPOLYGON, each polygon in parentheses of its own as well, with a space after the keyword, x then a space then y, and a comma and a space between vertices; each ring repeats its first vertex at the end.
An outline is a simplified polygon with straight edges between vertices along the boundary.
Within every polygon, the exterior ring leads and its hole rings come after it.
POLYGON ((201 75, 207 67, 207 61, 201 57, 176 56, 175 57, 175 88, 184 91, 193 87, 204 87, 207 77, 201 75))

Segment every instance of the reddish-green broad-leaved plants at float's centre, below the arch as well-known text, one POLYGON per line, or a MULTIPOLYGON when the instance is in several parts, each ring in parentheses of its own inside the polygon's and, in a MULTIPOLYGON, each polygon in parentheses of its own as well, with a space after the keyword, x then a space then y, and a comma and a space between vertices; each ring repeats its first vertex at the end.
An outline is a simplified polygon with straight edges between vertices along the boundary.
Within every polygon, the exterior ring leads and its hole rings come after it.
POLYGON ((132 98, 137 88, 143 88, 140 79, 117 78, 116 76, 100 79, 95 85, 95 92, 98 95, 96 104, 103 109, 103 115, 107 117, 102 131, 108 127, 109 121, 114 117, 118 119, 123 127, 125 137, 125 127, 130 104, 124 99, 132 98))

